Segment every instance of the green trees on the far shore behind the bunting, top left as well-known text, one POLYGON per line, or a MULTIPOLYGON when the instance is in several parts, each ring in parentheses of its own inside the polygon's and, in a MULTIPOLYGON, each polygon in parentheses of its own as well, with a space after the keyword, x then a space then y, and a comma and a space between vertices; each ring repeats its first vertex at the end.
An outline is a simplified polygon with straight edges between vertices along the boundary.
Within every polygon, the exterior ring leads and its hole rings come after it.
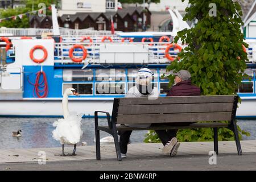
MULTIPOLYGON (((59 1, 58 0, 27 0, 24 2, 25 3, 25 7, 18 7, 16 9, 12 9, 11 7, 9 7, 6 10, 0 10, 0 19, 1 18, 8 18, 11 16, 15 16, 15 15, 19 15, 19 14, 24 14, 27 12, 30 12, 32 10, 39 10, 42 7, 38 7, 39 3, 45 3, 46 7, 51 6, 52 4, 55 4, 57 6, 59 6, 59 1)), ((48 9, 46 10, 46 13, 48 15, 51 14, 51 11, 49 11, 48 9)), ((9 28, 27 28, 29 27, 29 22, 28 22, 28 16, 24 15, 22 17, 22 19, 20 18, 16 18, 16 20, 14 19, 7 19, 7 20, 3 20, 0 23, 0 27, 9 27, 9 28)))

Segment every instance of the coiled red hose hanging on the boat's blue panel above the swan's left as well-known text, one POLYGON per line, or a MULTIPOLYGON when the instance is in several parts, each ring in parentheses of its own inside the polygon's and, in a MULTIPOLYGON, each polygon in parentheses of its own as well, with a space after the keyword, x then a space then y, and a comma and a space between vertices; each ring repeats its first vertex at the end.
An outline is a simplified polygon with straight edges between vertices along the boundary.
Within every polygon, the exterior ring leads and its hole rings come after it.
POLYGON ((35 97, 35 93, 36 93, 36 96, 38 96, 38 98, 44 98, 44 97, 48 96, 48 84, 47 84, 47 78, 46 78, 45 72, 39 71, 36 73, 35 84, 30 82, 29 79, 28 79, 28 82, 30 84, 34 85, 33 97, 35 97), (41 74, 43 75, 43 80, 41 82, 39 82, 41 74), (43 93, 43 95, 41 96, 40 94, 42 94, 42 93, 43 93))

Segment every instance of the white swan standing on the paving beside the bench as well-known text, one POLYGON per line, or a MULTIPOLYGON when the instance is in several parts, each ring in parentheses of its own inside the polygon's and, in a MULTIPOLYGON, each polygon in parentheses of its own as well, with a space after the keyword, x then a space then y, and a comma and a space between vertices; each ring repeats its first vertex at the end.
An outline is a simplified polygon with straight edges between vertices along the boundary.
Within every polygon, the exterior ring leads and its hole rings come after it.
POLYGON ((52 131, 52 137, 61 143, 62 153, 60 156, 66 156, 64 154, 64 144, 73 144, 74 150, 71 155, 76 155, 76 144, 79 143, 82 137, 82 114, 69 113, 68 110, 68 96, 72 94, 78 96, 76 90, 73 88, 67 88, 65 90, 62 100, 64 119, 61 118, 53 122, 53 126, 56 129, 52 131))

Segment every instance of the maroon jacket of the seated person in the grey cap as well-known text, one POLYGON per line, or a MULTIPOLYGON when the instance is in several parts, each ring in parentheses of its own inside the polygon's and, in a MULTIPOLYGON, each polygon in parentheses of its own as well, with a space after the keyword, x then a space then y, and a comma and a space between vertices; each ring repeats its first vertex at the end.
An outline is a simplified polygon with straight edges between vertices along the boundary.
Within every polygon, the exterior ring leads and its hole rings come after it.
POLYGON ((191 85, 191 80, 178 82, 166 96, 200 96, 200 88, 191 85))

